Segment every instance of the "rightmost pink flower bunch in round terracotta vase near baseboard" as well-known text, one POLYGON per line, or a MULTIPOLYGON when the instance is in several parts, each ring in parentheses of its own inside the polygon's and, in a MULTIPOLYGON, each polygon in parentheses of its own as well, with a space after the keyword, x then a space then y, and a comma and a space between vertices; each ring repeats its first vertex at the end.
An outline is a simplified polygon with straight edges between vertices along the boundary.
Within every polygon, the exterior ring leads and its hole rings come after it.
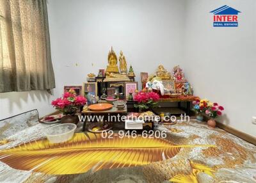
POLYGON ((207 121, 207 125, 209 128, 214 129, 216 126, 216 121, 214 120, 218 116, 222 115, 222 112, 224 110, 223 106, 219 106, 218 103, 213 103, 211 106, 209 106, 205 110, 205 115, 209 116, 210 119, 207 121))

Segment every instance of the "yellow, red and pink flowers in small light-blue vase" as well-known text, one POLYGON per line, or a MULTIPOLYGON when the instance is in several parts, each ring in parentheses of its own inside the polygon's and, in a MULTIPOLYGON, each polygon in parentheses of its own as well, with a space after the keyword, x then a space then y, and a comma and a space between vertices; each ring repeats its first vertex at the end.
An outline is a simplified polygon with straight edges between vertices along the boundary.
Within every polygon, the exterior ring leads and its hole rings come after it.
POLYGON ((207 99, 202 99, 202 100, 196 99, 195 101, 192 102, 192 104, 193 104, 193 111, 195 111, 195 113, 196 113, 196 119, 202 122, 203 119, 204 119, 203 114, 204 114, 205 110, 208 107, 209 100, 207 100, 207 99))

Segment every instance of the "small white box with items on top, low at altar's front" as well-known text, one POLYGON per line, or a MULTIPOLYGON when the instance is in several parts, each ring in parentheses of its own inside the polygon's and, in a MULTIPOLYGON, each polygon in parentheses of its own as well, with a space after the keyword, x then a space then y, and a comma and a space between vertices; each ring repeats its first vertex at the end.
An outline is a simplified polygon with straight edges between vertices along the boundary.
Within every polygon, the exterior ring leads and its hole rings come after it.
POLYGON ((138 118, 140 113, 128 113, 127 119, 125 120, 125 129, 127 130, 139 130, 143 129, 144 120, 138 118))

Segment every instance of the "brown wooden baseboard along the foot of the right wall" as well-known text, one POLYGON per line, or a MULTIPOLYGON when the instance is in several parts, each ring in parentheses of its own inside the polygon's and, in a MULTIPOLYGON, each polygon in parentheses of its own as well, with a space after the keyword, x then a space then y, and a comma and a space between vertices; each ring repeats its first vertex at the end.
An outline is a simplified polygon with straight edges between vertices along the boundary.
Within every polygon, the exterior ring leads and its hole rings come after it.
POLYGON ((249 134, 238 131, 237 129, 234 129, 220 122, 216 122, 216 126, 219 127, 220 129, 223 129, 224 131, 230 132, 230 134, 234 134, 234 136, 237 136, 241 139, 244 139, 245 141, 248 141, 249 143, 252 143, 253 145, 256 145, 256 138, 253 136, 250 136, 249 134))

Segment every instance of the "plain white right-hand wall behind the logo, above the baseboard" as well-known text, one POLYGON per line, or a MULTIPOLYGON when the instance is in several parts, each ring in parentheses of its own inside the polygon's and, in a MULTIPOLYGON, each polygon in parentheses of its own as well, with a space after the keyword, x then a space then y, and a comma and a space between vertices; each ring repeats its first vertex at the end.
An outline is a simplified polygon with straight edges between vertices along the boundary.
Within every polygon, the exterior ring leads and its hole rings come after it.
POLYGON ((220 119, 256 136, 256 1, 186 3, 185 60, 182 67, 195 94, 225 107, 220 119), (239 10, 238 28, 213 28, 212 10, 227 4, 239 10))

